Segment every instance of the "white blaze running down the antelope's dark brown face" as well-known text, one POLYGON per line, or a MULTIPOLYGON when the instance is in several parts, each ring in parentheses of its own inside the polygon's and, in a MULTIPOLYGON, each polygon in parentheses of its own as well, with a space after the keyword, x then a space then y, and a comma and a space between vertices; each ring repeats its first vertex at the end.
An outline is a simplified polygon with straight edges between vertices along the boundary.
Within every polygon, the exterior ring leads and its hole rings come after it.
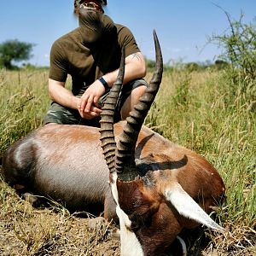
POLYGON ((120 240, 122 256, 143 256, 143 247, 137 239, 134 232, 131 231, 131 220, 127 214, 119 207, 119 195, 117 190, 118 176, 116 172, 112 174, 113 183, 110 183, 113 199, 117 204, 116 213, 119 217, 120 224, 120 240))

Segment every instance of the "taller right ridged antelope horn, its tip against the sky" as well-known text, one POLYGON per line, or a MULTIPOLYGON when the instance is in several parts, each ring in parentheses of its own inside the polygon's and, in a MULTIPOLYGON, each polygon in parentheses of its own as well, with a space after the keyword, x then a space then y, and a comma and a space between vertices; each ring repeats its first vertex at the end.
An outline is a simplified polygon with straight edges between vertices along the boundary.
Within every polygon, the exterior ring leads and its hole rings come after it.
POLYGON ((119 143, 117 144, 117 152, 115 156, 115 166, 122 181, 134 180, 138 173, 135 165, 135 147, 138 134, 142 128, 143 121, 147 116, 151 104, 154 102, 163 73, 163 59, 160 50, 159 40, 154 31, 154 47, 156 68, 153 77, 148 85, 147 90, 137 102, 137 105, 131 111, 130 116, 126 119, 124 131, 122 132, 119 143))

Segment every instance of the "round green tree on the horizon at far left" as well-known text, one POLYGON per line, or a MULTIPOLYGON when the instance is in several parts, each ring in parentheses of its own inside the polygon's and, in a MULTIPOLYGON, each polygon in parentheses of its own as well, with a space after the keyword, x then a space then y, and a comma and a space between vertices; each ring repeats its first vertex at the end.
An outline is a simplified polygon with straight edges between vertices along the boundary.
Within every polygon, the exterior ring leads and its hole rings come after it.
POLYGON ((0 65, 7 69, 14 66, 12 61, 26 61, 32 57, 32 48, 35 44, 20 42, 17 39, 7 40, 0 44, 0 65))

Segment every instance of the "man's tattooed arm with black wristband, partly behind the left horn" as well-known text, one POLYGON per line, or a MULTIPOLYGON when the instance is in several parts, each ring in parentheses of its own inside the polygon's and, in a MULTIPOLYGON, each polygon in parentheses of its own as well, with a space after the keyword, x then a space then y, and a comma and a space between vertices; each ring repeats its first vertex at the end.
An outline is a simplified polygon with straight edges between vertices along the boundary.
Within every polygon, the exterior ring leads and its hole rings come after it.
MULTIPOLYGON (((102 77, 108 83, 109 87, 113 86, 113 83, 117 79, 119 69, 114 70, 111 73, 106 73, 102 77)), ((133 79, 140 79, 146 75, 146 63, 141 52, 137 52, 132 55, 128 55, 125 58, 125 77, 124 84, 130 82, 133 79)), ((79 106, 80 113, 89 113, 92 106, 98 107, 98 100, 104 93, 105 88, 103 84, 96 80, 93 84, 90 84, 89 88, 85 90, 84 95, 81 97, 79 106)))

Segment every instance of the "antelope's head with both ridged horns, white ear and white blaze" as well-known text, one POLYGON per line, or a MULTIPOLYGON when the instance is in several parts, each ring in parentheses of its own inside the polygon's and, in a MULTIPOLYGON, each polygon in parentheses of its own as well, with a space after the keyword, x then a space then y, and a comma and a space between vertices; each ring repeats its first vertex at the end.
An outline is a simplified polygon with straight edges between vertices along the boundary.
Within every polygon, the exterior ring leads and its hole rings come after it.
POLYGON ((155 72, 144 95, 126 119, 124 131, 117 143, 113 134, 113 113, 125 72, 124 49, 119 76, 102 108, 102 149, 119 217, 121 255, 161 255, 176 239, 183 228, 183 219, 187 217, 195 219, 196 222, 207 223, 207 226, 214 229, 222 229, 187 195, 174 178, 168 178, 169 174, 164 177, 161 170, 148 170, 142 174, 136 165, 137 137, 159 90, 163 72, 160 44, 155 32, 154 45, 155 72), (189 206, 194 207, 195 214, 184 209, 183 204, 187 200, 189 206))

